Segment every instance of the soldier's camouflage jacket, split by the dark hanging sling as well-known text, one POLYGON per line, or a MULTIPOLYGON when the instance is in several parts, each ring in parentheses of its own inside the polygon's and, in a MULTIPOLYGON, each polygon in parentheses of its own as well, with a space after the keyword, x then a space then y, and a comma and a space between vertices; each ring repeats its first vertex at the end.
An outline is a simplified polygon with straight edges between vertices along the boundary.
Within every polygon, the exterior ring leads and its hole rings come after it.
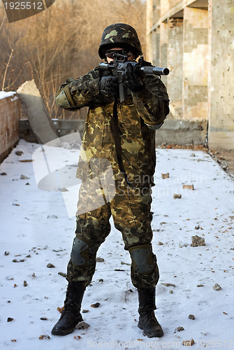
MULTIPOLYGON (((82 180, 92 177, 92 162, 96 164, 97 158, 110 161, 115 176, 119 174, 112 118, 115 99, 99 93, 99 78, 96 67, 76 80, 68 78, 56 94, 66 90, 69 106, 64 109, 74 111, 89 107, 77 174, 82 180)), ((155 129, 162 125, 169 113, 168 94, 159 77, 147 74, 144 80, 142 90, 129 90, 128 99, 117 103, 124 169, 129 180, 139 186, 151 182, 154 175, 155 129)))

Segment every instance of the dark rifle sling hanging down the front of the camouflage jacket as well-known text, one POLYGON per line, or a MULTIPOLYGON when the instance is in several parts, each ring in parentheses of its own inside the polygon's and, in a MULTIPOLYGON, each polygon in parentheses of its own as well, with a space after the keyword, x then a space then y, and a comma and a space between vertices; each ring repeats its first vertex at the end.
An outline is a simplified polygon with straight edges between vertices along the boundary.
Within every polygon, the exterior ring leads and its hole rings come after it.
POLYGON ((123 158, 122 158, 122 148, 121 148, 121 138, 119 134, 119 123, 118 123, 118 111, 117 111, 117 101, 115 100, 113 106, 113 131, 114 131, 114 140, 115 140, 115 152, 117 155, 117 162, 119 165, 119 170, 124 175, 124 179, 127 185, 131 188, 135 188, 133 184, 129 181, 129 178, 125 172, 123 158))

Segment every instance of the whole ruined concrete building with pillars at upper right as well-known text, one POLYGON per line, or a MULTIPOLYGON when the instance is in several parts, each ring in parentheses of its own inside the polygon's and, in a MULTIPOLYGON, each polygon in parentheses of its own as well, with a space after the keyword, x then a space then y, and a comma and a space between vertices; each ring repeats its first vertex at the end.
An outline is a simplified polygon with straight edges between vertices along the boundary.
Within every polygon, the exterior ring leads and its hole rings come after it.
POLYGON ((147 59, 170 69, 169 118, 207 120, 210 148, 234 148, 233 28, 232 0, 147 0, 147 59))

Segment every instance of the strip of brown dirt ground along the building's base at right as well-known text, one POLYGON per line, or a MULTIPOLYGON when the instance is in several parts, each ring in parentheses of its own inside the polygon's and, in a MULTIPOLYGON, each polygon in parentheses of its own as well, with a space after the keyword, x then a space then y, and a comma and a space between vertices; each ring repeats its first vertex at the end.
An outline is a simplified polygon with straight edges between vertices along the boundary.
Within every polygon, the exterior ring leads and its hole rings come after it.
POLYGON ((156 146, 156 148, 181 148, 181 149, 191 149, 193 151, 204 151, 208 153, 219 165, 224 172, 231 175, 234 179, 234 151, 224 150, 221 148, 209 149, 204 146, 179 146, 174 144, 161 144, 161 146, 156 146))

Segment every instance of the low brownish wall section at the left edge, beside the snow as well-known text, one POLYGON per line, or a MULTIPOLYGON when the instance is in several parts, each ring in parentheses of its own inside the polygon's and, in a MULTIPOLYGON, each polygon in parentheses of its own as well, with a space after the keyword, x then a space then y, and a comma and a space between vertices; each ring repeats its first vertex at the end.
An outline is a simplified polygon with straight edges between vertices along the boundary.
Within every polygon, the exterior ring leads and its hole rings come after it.
POLYGON ((19 140, 19 122, 20 99, 17 94, 0 99, 0 162, 19 140))

